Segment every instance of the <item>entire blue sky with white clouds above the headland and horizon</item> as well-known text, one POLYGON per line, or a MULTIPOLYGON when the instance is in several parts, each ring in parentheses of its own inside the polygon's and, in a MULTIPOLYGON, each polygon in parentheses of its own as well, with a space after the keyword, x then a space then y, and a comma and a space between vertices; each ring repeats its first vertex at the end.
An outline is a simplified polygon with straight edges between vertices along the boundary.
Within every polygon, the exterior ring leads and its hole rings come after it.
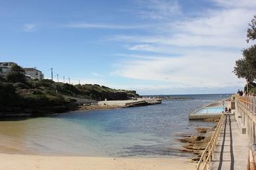
POLYGON ((236 93, 255 0, 0 0, 0 61, 146 94, 236 93))

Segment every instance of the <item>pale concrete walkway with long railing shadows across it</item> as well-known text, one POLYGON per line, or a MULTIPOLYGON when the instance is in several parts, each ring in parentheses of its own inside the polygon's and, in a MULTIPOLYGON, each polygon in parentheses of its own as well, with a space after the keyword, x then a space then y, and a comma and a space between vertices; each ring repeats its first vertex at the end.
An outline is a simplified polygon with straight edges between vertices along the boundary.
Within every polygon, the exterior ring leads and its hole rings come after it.
POLYGON ((240 133, 234 115, 227 114, 213 154, 211 169, 246 169, 248 151, 247 135, 240 133))

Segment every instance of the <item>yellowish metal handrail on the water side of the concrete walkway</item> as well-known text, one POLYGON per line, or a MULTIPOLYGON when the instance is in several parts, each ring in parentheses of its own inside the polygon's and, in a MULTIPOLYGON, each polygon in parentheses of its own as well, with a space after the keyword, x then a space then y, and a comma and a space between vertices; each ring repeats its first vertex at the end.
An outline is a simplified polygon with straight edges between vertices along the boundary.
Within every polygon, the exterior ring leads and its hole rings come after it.
POLYGON ((203 150, 203 154, 202 154, 200 160, 198 161, 198 165, 196 165, 196 170, 200 170, 201 166, 202 166, 203 170, 205 170, 206 168, 209 169, 209 167, 211 166, 211 158, 213 156, 213 152, 215 150, 215 145, 216 145, 217 139, 219 137, 219 133, 221 131, 221 126, 223 125, 224 115, 225 115, 224 113, 221 115, 221 119, 219 120, 219 123, 213 133, 213 136, 211 137, 211 140, 207 144, 205 150, 203 150), (208 167, 207 167, 207 165, 208 165, 208 167))

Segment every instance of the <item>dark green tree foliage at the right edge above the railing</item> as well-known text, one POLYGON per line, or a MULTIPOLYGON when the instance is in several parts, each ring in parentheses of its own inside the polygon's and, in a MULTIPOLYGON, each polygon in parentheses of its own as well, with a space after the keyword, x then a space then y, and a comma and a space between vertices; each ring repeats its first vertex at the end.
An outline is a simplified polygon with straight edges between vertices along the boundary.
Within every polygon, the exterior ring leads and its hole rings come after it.
MULTIPOLYGON (((256 16, 253 16, 249 28, 247 29, 247 42, 254 41, 256 39, 256 16)), ((242 50, 243 58, 236 61, 234 67, 234 73, 238 78, 245 78, 248 82, 249 93, 256 92, 256 84, 254 80, 256 79, 256 44, 249 48, 242 50)), ((245 86, 245 92, 247 91, 247 86, 245 86)))

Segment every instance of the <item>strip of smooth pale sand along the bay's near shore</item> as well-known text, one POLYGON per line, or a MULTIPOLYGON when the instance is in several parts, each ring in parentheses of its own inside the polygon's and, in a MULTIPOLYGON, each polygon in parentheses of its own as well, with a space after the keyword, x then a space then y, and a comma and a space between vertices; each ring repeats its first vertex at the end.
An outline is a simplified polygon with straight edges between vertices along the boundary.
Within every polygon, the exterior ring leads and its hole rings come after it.
POLYGON ((32 156, 0 154, 1 170, 17 169, 86 169, 86 170, 139 170, 139 169, 194 169, 195 164, 182 158, 100 158, 77 156, 32 156))

